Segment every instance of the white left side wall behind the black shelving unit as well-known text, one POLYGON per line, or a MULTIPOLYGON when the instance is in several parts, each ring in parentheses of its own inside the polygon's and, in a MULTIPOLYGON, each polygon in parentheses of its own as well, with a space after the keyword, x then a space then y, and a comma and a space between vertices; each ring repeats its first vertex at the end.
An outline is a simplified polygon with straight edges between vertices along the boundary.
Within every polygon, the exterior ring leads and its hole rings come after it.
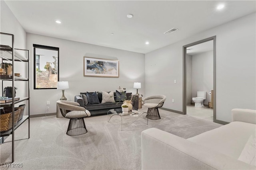
MULTIPOLYGON (((16 49, 26 49, 26 32, 23 29, 23 27, 20 25, 16 17, 12 14, 8 6, 4 1, 0 1, 0 29, 3 33, 9 33, 14 34, 14 48, 16 49)), ((9 45, 12 47, 12 37, 7 35, 1 35, 1 45, 9 45)), ((18 51, 20 54, 23 51, 18 51)), ((3 61, 7 62, 7 61, 3 61)), ((11 63, 11 62, 7 62, 11 63)), ((15 73, 20 73, 23 77, 27 77, 27 70, 26 66, 27 63, 21 63, 21 62, 14 62, 14 68, 13 71, 15 73)), ((1 84, 1 94, 2 96, 2 83, 1 84)), ((18 88, 16 90, 16 97, 24 97, 28 96, 28 91, 25 88, 27 86, 28 82, 15 82, 14 86, 18 88)), ((11 81, 4 81, 4 86, 12 86, 11 81)), ((26 104, 27 102, 22 102, 19 104, 26 104)), ((17 105, 19 105, 17 104, 17 105)), ((16 106, 16 105, 15 105, 16 106)), ((27 107, 26 107, 27 108, 27 107)), ((27 109, 25 109, 27 111, 27 109)), ((26 113, 25 113, 26 114, 26 113)))

